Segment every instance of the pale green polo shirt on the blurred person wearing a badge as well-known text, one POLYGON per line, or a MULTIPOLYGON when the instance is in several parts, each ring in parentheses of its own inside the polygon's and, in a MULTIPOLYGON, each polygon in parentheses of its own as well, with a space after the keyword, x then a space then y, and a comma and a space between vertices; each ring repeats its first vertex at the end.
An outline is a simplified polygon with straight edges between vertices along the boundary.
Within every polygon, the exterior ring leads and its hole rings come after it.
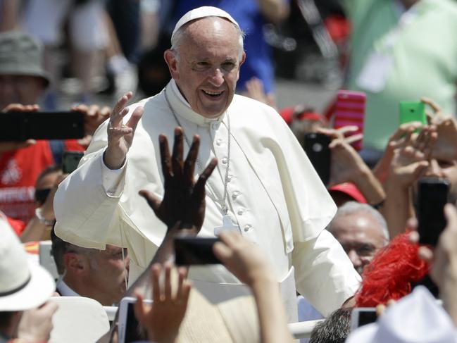
POLYGON ((347 88, 367 93, 363 144, 384 149, 399 126, 399 101, 428 96, 445 113, 456 113, 457 1, 421 0, 417 15, 400 31, 393 49, 384 39, 401 17, 394 0, 346 0, 353 25, 347 88), (381 92, 358 87, 356 80, 373 51, 389 51, 392 68, 381 92))

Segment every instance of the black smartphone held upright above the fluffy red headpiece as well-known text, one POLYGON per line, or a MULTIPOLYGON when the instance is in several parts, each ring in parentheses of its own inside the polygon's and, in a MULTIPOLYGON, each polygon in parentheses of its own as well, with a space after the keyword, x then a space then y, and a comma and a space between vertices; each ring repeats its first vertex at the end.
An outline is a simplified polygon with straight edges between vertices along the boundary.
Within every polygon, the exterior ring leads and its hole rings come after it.
POLYGON ((425 177, 418 181, 416 211, 420 244, 436 246, 446 227, 444 205, 449 199, 449 181, 425 177))

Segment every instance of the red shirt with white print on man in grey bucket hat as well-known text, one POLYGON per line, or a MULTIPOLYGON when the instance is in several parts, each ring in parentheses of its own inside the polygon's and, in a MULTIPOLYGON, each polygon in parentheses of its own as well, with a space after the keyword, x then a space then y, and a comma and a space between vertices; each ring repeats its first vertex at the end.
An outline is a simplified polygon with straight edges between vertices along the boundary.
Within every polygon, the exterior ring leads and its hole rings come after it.
MULTIPOLYGON (((84 151, 75 139, 65 140, 66 150, 84 151)), ((0 210, 27 223, 35 212, 35 183, 42 171, 54 165, 49 141, 0 155, 0 210)))

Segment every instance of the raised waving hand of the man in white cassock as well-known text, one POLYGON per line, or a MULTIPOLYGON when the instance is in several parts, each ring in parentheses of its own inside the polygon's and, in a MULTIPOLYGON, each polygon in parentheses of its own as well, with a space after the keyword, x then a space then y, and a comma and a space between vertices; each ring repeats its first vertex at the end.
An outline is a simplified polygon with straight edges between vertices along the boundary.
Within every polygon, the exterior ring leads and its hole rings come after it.
POLYGON ((104 163, 110 169, 123 166, 127 151, 132 146, 135 129, 144 112, 143 107, 138 106, 127 123, 124 123, 124 117, 129 112, 125 105, 132 96, 132 92, 128 92, 118 100, 108 121, 108 147, 104 154, 104 163))

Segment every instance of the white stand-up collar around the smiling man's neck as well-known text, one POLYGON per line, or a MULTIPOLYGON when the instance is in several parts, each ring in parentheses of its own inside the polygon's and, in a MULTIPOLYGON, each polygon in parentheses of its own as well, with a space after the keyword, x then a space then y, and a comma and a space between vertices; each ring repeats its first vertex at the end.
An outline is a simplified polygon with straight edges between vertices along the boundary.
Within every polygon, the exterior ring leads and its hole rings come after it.
POLYGON ((165 92, 176 116, 183 117, 196 125, 209 126, 211 123, 220 123, 225 116, 225 113, 223 113, 218 118, 205 118, 199 113, 196 113, 192 110, 186 99, 184 99, 184 96, 182 96, 180 89, 177 88, 176 82, 173 79, 168 82, 167 87, 165 87, 165 92))

